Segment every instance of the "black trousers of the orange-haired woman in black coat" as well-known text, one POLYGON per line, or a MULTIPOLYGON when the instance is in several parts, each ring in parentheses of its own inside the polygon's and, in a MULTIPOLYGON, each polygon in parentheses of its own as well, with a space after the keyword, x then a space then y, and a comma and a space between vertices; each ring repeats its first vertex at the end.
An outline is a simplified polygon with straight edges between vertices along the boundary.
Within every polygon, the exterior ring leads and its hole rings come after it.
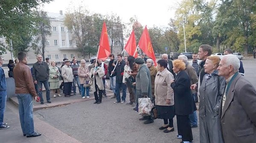
POLYGON ((193 135, 189 123, 189 115, 176 115, 178 134, 182 135, 182 141, 192 141, 193 135))

